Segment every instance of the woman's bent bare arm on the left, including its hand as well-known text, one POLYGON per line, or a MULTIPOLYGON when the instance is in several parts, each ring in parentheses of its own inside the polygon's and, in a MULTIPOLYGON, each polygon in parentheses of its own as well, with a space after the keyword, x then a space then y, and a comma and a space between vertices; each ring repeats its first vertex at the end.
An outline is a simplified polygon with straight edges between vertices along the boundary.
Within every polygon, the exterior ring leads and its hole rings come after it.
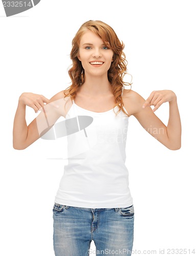
POLYGON ((60 116, 66 117, 72 103, 70 97, 64 98, 63 92, 57 93, 50 100, 39 94, 21 94, 13 124, 13 147, 16 150, 24 150, 49 131, 60 116), (35 113, 41 110, 28 126, 26 122, 27 105, 33 108, 35 113))

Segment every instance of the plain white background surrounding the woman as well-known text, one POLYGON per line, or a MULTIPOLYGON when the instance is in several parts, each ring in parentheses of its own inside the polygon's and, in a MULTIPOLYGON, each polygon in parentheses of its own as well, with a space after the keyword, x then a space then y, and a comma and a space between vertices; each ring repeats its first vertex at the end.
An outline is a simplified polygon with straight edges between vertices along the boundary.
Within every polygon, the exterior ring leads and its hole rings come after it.
MULTIPOLYGON (((173 248, 175 254, 180 254, 177 249, 187 249, 193 255, 194 5, 189 0, 41 0, 11 17, 6 17, 1 5, 1 255, 54 255, 52 208, 64 163, 47 159, 53 149, 44 140, 24 151, 14 150, 13 119, 21 93, 51 98, 70 85, 71 41, 89 19, 107 23, 124 42, 134 91, 147 98, 153 90, 169 89, 178 98, 182 121, 178 151, 168 150, 134 117, 129 118, 126 166, 135 208, 134 253, 156 250, 159 255, 161 249, 167 255, 167 249, 173 248)), ((167 124, 168 103, 156 115, 167 124)), ((27 122, 35 117, 27 108, 27 122)), ((93 242, 91 248, 95 249, 93 242)))

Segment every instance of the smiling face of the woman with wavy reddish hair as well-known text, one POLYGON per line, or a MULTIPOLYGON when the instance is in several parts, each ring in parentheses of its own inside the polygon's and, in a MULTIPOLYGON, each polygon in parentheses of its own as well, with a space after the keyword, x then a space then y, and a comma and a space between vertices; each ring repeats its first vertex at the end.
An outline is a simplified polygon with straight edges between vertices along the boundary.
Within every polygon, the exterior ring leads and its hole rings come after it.
POLYGON ((107 76, 113 61, 113 51, 104 45, 99 36, 89 30, 81 36, 78 59, 81 61, 85 76, 107 76))

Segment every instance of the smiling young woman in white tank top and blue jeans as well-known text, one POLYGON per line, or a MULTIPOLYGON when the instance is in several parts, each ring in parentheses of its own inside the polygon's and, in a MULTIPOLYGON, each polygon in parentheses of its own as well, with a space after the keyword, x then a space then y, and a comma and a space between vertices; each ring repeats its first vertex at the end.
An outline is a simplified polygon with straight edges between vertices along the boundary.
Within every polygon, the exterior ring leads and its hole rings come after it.
POLYGON ((181 147, 176 94, 154 91, 144 100, 133 90, 123 90, 127 84, 123 82, 127 65, 123 49, 123 42, 110 26, 89 20, 72 41, 71 86, 50 100, 33 93, 19 97, 13 127, 13 147, 17 150, 46 134, 60 116, 70 121, 77 116, 93 118, 85 129, 89 148, 77 151, 81 142, 77 136, 83 131, 68 135, 75 153, 64 168, 53 207, 56 256, 89 255, 92 240, 98 254, 131 255, 134 206, 125 166, 129 116, 134 115, 170 150, 181 147), (164 102, 169 102, 167 126, 154 113, 164 102), (36 113, 41 110, 28 126, 26 105, 36 113), (155 135, 155 130, 161 132, 155 135))

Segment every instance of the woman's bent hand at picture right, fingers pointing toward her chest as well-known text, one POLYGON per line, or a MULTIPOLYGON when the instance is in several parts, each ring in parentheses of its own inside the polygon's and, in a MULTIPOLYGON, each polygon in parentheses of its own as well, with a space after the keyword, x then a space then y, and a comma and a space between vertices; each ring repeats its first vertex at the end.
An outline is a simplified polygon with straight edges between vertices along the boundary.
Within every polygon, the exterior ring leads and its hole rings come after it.
POLYGON ((155 108, 153 112, 155 112, 160 105, 164 102, 169 102, 176 99, 176 94, 170 90, 162 90, 162 91, 153 91, 151 92, 150 96, 144 102, 142 108, 144 109, 146 106, 154 105, 155 108))

